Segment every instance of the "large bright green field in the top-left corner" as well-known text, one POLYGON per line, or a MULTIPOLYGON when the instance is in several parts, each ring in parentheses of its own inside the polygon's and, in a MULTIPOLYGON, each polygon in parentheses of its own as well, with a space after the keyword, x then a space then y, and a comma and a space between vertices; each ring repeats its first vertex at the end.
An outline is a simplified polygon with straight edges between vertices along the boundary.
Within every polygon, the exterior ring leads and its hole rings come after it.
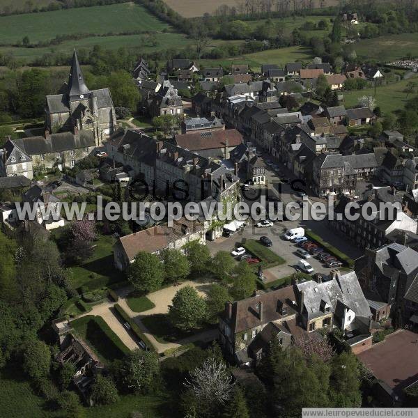
POLYGON ((171 26, 134 3, 73 8, 45 13, 0 17, 0 42, 11 44, 28 36, 31 43, 73 33, 162 31, 171 26))

